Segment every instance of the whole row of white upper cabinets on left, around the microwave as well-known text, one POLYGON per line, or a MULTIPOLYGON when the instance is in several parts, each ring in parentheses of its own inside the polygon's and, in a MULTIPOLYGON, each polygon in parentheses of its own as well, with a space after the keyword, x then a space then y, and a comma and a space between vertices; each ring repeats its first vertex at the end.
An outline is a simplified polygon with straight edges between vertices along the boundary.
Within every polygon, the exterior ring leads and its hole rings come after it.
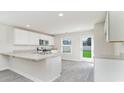
POLYGON ((54 45, 54 37, 30 32, 22 29, 14 30, 14 44, 16 45, 39 45, 39 39, 47 40, 49 45, 54 45))

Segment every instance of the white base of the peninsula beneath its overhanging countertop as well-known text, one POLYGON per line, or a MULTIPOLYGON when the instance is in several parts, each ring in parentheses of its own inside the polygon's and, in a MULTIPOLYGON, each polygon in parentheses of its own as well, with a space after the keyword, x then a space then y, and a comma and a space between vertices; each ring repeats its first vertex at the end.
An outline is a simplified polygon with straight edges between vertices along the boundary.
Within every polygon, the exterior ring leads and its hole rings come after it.
POLYGON ((51 82, 61 74, 61 56, 39 61, 9 57, 9 69, 35 82, 51 82))

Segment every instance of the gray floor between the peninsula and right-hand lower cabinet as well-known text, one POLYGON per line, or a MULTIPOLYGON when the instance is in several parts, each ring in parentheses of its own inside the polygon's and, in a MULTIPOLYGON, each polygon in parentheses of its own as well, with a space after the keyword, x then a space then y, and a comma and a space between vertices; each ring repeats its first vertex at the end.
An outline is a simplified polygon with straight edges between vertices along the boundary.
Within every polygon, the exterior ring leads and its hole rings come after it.
POLYGON ((62 61, 61 76, 54 82, 93 82, 93 77, 92 63, 62 61))

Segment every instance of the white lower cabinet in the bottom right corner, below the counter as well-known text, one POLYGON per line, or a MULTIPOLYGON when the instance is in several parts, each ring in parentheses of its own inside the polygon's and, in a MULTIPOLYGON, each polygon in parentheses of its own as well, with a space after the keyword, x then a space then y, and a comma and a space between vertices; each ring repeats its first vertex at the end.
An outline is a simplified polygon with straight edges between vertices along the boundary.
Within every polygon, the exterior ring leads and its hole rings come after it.
POLYGON ((124 82, 124 60, 96 58, 95 82, 124 82))

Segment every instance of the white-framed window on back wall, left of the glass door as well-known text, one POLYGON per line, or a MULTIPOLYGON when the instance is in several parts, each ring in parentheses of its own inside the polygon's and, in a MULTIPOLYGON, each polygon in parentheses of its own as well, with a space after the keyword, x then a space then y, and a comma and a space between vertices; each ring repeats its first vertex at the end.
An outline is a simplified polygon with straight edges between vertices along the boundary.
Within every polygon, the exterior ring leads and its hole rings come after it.
POLYGON ((72 42, 71 38, 64 37, 61 40, 61 51, 65 54, 70 54, 72 52, 72 42))

